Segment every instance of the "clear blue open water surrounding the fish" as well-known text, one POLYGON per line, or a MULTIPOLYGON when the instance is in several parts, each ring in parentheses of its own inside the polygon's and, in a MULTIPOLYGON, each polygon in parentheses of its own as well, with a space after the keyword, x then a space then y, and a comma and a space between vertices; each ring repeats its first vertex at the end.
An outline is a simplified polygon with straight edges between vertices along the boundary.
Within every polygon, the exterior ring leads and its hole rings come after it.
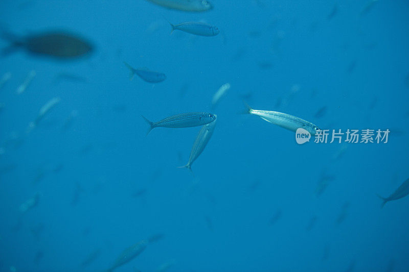
POLYGON ((368 0, 211 2, 203 13, 143 0, 0 2, 1 26, 16 35, 64 30, 95 45, 76 60, 0 59, 0 77, 11 72, 0 89, 0 271, 102 271, 158 234, 116 271, 409 270, 409 197, 380 209, 376 196, 409 178, 409 3, 379 0, 361 14, 368 0), (167 20, 220 34, 170 35, 167 20), (167 78, 129 81, 123 61, 167 78), (53 97, 60 103, 27 133, 53 97), (240 114, 243 100, 320 128, 391 133, 388 143, 299 145, 240 114), (217 126, 192 175, 177 166, 200 128, 145 136, 141 115, 201 111, 217 126))

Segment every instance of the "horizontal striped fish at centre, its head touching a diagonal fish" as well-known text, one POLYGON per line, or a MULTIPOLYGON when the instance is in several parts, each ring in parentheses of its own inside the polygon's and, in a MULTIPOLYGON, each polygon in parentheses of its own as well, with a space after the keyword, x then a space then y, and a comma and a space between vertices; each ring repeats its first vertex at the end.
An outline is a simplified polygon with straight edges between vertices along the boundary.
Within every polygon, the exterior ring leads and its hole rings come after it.
POLYGON ((145 121, 149 124, 149 129, 146 135, 149 134, 154 128, 191 128, 207 125, 208 123, 216 120, 216 115, 207 112, 188 112, 180 113, 170 117, 166 117, 157 122, 151 122, 145 116, 142 115, 145 121))

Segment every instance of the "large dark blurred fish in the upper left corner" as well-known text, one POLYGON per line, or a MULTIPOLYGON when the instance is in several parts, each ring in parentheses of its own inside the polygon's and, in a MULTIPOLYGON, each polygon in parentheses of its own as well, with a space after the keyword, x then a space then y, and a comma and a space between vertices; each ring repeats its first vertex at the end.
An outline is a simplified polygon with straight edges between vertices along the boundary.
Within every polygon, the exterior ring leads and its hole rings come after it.
POLYGON ((3 32, 2 36, 10 42, 8 47, 3 48, 3 55, 24 48, 34 55, 71 59, 93 51, 93 46, 88 41, 66 32, 54 31, 26 37, 3 32))

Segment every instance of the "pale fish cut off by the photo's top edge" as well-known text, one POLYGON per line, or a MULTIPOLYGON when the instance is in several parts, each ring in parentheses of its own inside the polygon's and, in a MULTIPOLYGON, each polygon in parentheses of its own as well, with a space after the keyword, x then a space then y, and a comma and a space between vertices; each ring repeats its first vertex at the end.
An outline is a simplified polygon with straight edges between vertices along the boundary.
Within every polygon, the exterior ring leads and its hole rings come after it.
POLYGON ((207 0, 148 0, 153 4, 168 9, 203 12, 213 9, 212 4, 207 0))

